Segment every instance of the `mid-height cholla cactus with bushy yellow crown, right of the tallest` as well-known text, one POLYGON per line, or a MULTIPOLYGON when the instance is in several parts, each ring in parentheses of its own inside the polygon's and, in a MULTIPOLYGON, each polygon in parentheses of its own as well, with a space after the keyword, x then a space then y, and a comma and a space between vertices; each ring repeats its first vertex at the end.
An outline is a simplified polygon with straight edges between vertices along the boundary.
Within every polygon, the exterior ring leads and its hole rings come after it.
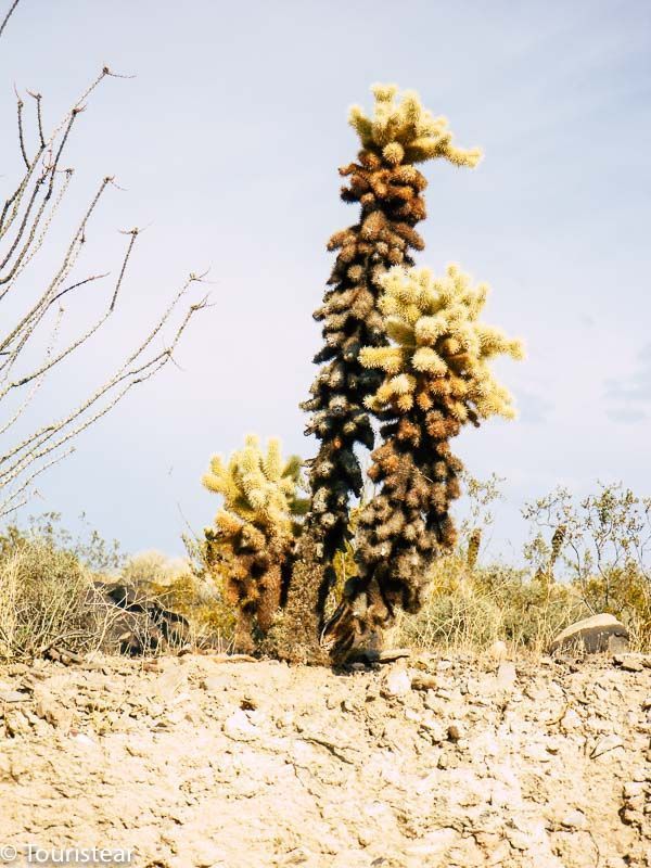
POLYGON ((487 286, 471 286, 456 266, 443 278, 396 267, 381 284, 392 343, 360 353, 361 363, 383 376, 366 401, 384 423, 369 471, 381 487, 359 518, 359 575, 327 629, 335 659, 390 624, 396 607, 421 608, 427 566, 456 540, 449 507, 462 464, 449 441, 467 423, 514 417, 489 363, 499 355, 523 356, 519 341, 478 321, 487 286))

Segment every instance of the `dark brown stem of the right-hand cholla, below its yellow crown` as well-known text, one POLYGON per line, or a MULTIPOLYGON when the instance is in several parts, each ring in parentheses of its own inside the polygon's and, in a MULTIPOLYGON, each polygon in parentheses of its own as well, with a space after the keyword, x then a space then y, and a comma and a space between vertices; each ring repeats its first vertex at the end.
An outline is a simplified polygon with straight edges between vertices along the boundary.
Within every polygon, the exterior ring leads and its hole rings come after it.
POLYGON ((376 641, 396 609, 421 609, 430 565, 457 538, 449 507, 459 497, 463 465, 448 441, 460 429, 436 407, 426 412, 416 407, 409 417, 382 426, 384 443, 372 454, 369 471, 381 490, 359 516, 358 575, 347 583, 328 624, 334 661, 357 644, 376 641))

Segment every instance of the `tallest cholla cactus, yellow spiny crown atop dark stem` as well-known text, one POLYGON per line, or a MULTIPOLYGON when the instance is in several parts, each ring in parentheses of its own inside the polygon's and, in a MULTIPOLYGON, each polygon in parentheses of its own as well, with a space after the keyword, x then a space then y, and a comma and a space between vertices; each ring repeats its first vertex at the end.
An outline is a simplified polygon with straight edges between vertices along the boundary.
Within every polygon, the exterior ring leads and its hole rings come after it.
POLYGON ((359 203, 361 215, 328 244, 340 253, 329 280, 333 289, 315 312, 323 322, 324 339, 315 362, 323 367, 311 387, 312 398, 302 405, 312 412, 306 433, 321 441, 311 462, 310 526, 327 559, 344 542, 349 496, 359 495, 362 486, 355 444, 373 446, 363 401, 381 376, 361 366, 359 352, 386 344, 378 309, 382 276, 393 265, 413 265, 409 248, 424 246, 413 227, 425 217, 422 192, 427 182, 413 164, 444 157, 458 166, 474 166, 481 157, 476 149, 455 148, 446 118, 433 117, 416 93, 399 95, 393 85, 372 90, 373 116, 359 106, 349 114, 362 150, 357 163, 340 169, 349 179, 342 199, 359 203))

